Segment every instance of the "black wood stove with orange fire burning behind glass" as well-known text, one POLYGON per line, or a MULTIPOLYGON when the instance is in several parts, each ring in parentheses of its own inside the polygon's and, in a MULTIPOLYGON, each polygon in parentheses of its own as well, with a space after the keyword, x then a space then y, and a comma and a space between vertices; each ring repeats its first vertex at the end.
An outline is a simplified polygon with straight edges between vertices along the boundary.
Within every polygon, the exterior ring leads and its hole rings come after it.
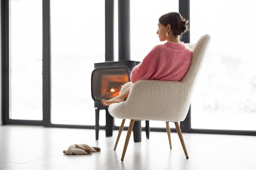
POLYGON ((99 139, 99 111, 106 110, 106 136, 112 136, 114 119, 108 113, 108 106, 103 106, 101 100, 118 96, 124 83, 130 81, 130 73, 138 61, 106 61, 94 63, 91 78, 91 92, 95 107, 96 140, 99 139))

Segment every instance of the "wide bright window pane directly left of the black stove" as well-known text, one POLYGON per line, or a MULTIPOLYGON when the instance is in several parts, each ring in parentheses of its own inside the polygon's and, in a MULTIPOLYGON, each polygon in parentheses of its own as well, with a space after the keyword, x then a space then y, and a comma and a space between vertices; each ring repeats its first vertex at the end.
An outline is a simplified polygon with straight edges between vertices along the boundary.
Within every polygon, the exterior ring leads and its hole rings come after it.
POLYGON ((51 0, 50 7, 51 122, 94 125, 90 79, 94 63, 105 61, 105 1, 51 0))

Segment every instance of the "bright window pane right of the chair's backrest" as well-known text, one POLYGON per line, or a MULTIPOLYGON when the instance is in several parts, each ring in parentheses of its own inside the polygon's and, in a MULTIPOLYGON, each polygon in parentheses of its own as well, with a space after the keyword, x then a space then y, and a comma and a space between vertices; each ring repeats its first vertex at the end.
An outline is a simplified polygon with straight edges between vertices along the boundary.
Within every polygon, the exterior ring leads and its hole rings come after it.
POLYGON ((211 35, 192 101, 192 128, 256 130, 256 15, 251 0, 193 0, 191 42, 211 35))

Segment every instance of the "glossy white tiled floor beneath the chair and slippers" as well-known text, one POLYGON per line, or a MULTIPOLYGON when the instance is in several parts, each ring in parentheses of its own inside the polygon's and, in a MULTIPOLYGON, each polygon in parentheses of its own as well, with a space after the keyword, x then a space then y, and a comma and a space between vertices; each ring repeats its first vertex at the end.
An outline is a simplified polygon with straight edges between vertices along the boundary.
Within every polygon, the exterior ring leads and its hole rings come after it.
POLYGON ((117 131, 99 140, 90 129, 46 128, 42 126, 0 126, 1 170, 256 170, 256 136, 184 133, 189 159, 185 158, 177 133, 150 132, 141 142, 130 143, 124 161, 121 154, 126 136, 113 150, 117 131), (71 144, 89 144, 101 152, 65 155, 71 144))

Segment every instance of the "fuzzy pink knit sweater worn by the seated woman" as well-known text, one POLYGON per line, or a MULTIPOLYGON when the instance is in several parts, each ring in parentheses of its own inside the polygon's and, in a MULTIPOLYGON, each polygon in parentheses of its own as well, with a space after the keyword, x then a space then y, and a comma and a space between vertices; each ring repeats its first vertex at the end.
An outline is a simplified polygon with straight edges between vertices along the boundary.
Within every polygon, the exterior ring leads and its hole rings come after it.
POLYGON ((131 81, 133 84, 142 79, 180 81, 188 71, 191 59, 192 51, 184 43, 167 41, 155 46, 132 69, 131 81))

